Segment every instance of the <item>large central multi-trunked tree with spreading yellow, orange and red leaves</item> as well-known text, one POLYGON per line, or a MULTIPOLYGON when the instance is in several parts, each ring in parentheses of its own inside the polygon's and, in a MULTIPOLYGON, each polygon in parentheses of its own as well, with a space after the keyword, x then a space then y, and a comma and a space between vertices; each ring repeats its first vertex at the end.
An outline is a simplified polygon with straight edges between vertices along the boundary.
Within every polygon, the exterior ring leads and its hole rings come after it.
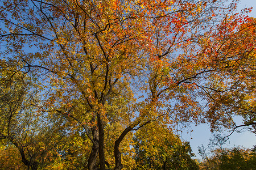
POLYGON ((88 169, 103 170, 112 161, 107 145, 114 148, 114 169, 122 169, 119 146, 129 145, 130 131, 151 121, 208 120, 217 129, 241 113, 219 107, 227 103, 219 96, 236 91, 241 98, 251 88, 236 69, 250 66, 236 59, 253 61, 255 40, 243 36, 254 32, 243 30, 254 25, 233 14, 236 1, 225 2, 2 2, 0 36, 6 50, 1 55, 39 77, 42 111, 63 115, 71 131, 86 134, 92 143, 88 169), (250 55, 239 46, 249 46, 250 55), (113 104, 118 99, 125 105, 113 104), (118 116, 110 112, 115 108, 122 111, 118 116), (113 139, 106 137, 110 127, 113 139))

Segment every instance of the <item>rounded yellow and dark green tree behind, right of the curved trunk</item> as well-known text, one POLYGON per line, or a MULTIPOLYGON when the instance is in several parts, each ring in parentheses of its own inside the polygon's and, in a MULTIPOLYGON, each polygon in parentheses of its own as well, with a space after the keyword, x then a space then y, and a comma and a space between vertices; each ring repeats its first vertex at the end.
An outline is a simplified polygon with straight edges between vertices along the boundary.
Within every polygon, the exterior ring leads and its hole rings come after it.
POLYGON ((181 142, 164 125, 151 124, 135 134, 133 169, 199 169, 189 142, 181 142))

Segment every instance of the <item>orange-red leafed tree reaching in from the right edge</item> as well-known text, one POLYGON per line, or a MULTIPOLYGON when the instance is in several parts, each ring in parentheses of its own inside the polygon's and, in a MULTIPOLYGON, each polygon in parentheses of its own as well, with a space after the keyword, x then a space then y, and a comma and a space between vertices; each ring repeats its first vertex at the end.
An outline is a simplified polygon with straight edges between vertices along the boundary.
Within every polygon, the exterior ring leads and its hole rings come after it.
POLYGON ((233 131, 244 126, 255 128, 255 19, 247 17, 242 22, 241 18, 242 15, 237 20, 233 16, 226 18, 201 43, 204 55, 213 58, 213 65, 222 70, 205 87, 209 107, 205 113, 212 128, 220 124, 233 131), (236 125, 233 116, 242 116, 244 124, 236 125))

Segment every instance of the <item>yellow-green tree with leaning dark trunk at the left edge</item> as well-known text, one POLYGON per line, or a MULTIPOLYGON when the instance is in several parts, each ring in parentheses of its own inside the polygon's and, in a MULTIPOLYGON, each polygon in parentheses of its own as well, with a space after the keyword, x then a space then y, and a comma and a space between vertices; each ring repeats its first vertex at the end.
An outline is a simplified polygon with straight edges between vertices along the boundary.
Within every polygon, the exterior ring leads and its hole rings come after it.
MULTIPOLYGON (((36 95, 36 92, 29 90, 33 82, 16 71, 15 66, 8 65, 5 60, 1 61, 0 81, 0 138, 7 139, 15 145, 22 156, 22 162, 28 167, 36 169, 37 162, 34 160, 34 155, 30 155, 30 159, 27 160, 24 154, 26 152, 24 148, 27 145, 23 145, 22 142, 30 143, 29 138, 33 135, 30 133, 30 129, 34 128, 32 119, 36 119, 31 116, 33 108, 30 107, 35 102, 35 98, 32 96, 36 95), (28 94, 29 92, 31 96, 28 94)), ((28 152, 30 151, 28 150, 28 152)))

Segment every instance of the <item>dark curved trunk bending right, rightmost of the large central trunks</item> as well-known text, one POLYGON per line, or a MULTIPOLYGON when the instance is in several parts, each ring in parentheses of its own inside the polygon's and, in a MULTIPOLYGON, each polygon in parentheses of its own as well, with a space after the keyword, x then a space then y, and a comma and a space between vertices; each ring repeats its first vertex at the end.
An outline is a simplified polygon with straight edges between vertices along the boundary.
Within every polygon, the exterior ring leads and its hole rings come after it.
POLYGON ((125 135, 131 131, 133 128, 131 128, 130 126, 128 126, 123 132, 122 134, 119 136, 119 138, 117 139, 117 141, 115 141, 115 146, 114 146, 114 155, 115 155, 115 169, 114 170, 121 170, 123 168, 122 165, 122 160, 121 160, 121 152, 119 151, 119 145, 122 142, 123 138, 125 137, 125 135))

